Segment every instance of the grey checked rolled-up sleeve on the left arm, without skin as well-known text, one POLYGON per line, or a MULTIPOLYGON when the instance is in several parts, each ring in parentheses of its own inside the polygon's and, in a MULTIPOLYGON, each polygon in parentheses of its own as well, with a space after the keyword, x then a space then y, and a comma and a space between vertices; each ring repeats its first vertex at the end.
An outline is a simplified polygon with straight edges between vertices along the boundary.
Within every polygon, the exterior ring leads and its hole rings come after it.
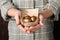
POLYGON ((5 21, 9 21, 10 17, 7 12, 10 8, 15 8, 11 3, 11 0, 0 0, 1 16, 5 21))

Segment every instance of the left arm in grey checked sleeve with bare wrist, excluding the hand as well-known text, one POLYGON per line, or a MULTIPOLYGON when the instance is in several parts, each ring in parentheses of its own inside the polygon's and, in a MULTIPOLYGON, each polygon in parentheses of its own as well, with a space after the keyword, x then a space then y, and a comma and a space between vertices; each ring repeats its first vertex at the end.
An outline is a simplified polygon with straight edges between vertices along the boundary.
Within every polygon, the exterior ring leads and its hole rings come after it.
POLYGON ((1 16, 5 21, 10 19, 9 16, 15 16, 19 12, 12 4, 11 0, 0 0, 0 9, 1 16))

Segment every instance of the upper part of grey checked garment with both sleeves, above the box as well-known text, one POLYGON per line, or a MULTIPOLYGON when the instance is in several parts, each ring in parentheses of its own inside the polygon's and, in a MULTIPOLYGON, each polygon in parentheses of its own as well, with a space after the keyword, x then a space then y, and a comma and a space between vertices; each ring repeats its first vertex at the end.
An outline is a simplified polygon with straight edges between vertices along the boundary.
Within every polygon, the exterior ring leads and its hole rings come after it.
MULTIPOLYGON (((60 12, 60 0, 35 0, 35 8, 39 8, 39 11, 43 10, 44 7, 47 5, 55 14, 55 20, 58 20, 58 13, 60 12)), ((0 9, 1 15, 4 20, 7 19, 6 14, 9 8, 34 8, 34 1, 33 0, 0 0, 0 9), (13 5, 14 4, 14 5, 13 5), (4 14, 4 15, 3 15, 4 14)))

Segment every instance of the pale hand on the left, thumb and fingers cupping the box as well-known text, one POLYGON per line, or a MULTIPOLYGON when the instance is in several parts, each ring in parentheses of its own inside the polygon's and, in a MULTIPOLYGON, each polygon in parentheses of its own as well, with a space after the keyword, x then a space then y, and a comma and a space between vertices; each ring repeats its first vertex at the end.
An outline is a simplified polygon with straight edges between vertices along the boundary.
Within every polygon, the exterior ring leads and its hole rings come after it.
POLYGON ((26 32, 26 29, 25 27, 20 23, 20 19, 21 19, 21 12, 17 12, 16 15, 15 15, 15 20, 16 20, 16 24, 18 26, 18 28, 24 32, 26 32))

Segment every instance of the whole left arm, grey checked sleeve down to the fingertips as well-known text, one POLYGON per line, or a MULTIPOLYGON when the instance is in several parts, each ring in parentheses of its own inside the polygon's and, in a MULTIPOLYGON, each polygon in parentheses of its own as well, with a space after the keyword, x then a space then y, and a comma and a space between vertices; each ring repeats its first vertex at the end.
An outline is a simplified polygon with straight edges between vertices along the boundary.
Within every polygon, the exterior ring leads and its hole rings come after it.
POLYGON ((17 10, 15 6, 11 3, 11 0, 0 0, 1 15, 3 19, 9 21, 8 16, 14 17, 17 27, 22 31, 26 32, 26 29, 20 24, 20 10, 17 10))

